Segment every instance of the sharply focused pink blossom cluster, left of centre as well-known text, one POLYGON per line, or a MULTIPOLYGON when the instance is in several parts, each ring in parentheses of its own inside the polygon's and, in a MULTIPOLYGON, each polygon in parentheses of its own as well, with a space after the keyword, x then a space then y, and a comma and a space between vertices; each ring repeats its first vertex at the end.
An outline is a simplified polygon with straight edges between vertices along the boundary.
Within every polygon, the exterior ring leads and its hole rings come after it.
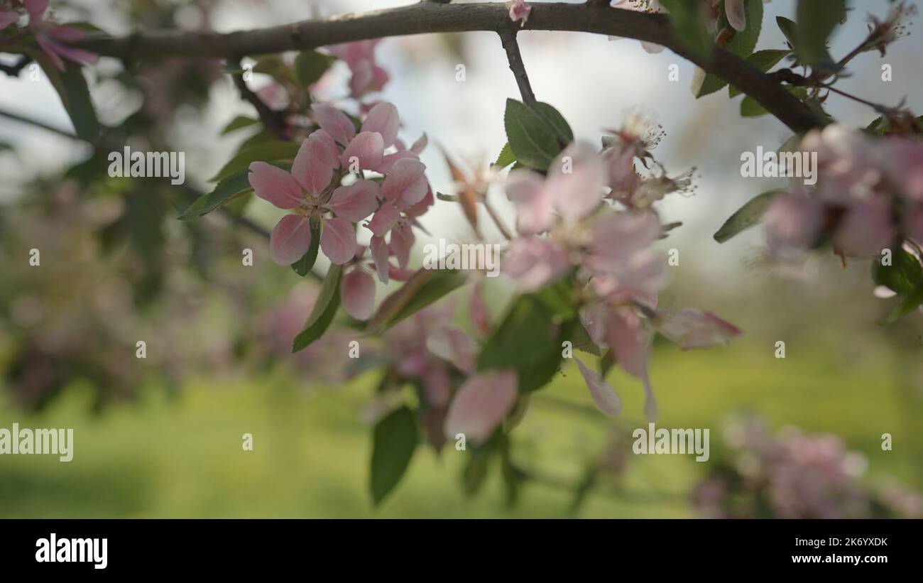
POLYGON ((256 161, 250 164, 249 182, 257 196, 292 211, 270 234, 272 260, 280 265, 297 262, 319 234, 324 255, 347 268, 341 287, 345 308, 366 319, 375 282, 366 273, 355 224, 371 216, 365 226, 372 232, 369 246, 379 279, 405 278, 412 227, 434 200, 418 156, 426 137, 404 146, 397 138, 397 108, 385 101, 368 112, 358 132, 345 113, 330 105, 318 103, 312 111, 319 129, 302 141, 291 171, 256 161), (397 266, 390 263, 391 256, 397 266))

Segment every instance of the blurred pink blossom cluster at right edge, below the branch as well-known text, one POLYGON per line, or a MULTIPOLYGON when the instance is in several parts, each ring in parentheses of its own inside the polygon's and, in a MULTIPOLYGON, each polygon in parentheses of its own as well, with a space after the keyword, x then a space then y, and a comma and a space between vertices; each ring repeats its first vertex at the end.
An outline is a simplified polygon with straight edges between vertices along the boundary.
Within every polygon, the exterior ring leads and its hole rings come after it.
POLYGON ((923 241, 923 144, 842 125, 813 130, 817 184, 797 184, 763 215, 769 253, 798 256, 830 242, 842 256, 873 256, 905 238, 923 241))

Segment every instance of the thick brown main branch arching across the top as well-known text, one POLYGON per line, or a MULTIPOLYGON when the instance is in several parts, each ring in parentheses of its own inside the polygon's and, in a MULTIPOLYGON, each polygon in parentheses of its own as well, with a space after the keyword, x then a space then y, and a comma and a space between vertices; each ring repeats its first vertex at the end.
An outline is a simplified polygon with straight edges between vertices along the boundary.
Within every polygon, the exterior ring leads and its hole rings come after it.
MULTIPOLYGON (((499 32, 516 30, 519 26, 509 19, 507 6, 500 2, 459 5, 421 2, 258 30, 223 34, 156 30, 118 38, 88 36, 71 44, 123 59, 223 58, 228 54, 280 53, 390 36, 468 30, 499 32)), ((722 48, 715 49, 711 59, 689 53, 665 15, 621 10, 600 3, 543 3, 533 5, 523 30, 593 32, 660 44, 737 86, 795 131, 827 124, 772 77, 737 55, 722 48)))

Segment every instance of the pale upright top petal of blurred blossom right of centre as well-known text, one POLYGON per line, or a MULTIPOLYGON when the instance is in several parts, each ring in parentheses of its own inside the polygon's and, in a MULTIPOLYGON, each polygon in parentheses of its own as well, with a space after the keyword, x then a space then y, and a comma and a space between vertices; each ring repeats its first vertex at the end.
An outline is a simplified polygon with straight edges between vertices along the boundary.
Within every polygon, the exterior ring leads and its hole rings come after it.
POLYGON ((605 165, 586 144, 571 144, 548 168, 545 188, 555 197, 558 214, 568 223, 589 215, 603 201, 605 165))

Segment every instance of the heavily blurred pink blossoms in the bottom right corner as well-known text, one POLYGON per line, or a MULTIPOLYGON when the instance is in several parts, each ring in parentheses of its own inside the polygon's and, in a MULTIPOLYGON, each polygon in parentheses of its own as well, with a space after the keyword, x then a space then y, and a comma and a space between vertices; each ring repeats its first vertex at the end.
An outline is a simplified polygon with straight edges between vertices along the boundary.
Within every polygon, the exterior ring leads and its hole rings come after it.
POLYGON ((717 460, 693 502, 712 518, 918 518, 923 496, 860 482, 865 458, 833 434, 787 428, 773 435, 759 418, 725 431, 730 456, 717 460))

